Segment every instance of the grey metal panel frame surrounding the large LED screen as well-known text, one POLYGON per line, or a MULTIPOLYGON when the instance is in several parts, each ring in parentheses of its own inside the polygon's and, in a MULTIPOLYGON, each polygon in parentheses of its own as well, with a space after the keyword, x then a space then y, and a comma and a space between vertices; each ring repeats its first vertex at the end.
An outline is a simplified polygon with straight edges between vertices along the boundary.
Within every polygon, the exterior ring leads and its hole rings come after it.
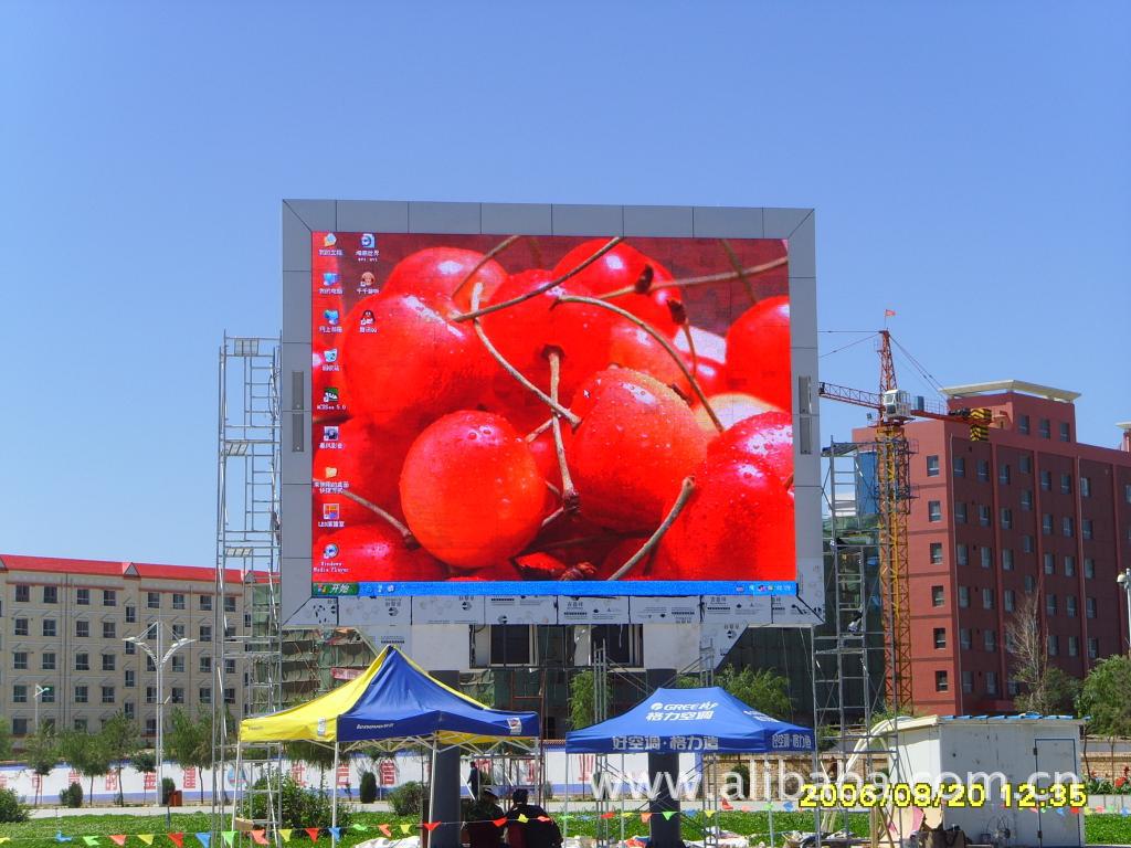
MULTIPOLYGON (((763 207, 588 206, 382 200, 284 200, 280 354, 282 618, 288 626, 349 625, 374 617, 375 598, 318 597, 312 580, 311 235, 319 231, 467 235, 569 235, 785 239, 789 257, 791 362, 794 392, 796 596, 734 596, 733 620, 749 626, 810 626, 823 621, 820 429, 817 404, 814 210, 763 207)), ((416 598, 400 595, 411 617, 416 598)), ((550 596, 563 608, 567 596, 550 596)), ((622 596, 602 595, 604 599, 622 596)), ((452 602, 457 596, 451 596, 452 602)), ((576 599, 576 598, 575 598, 576 599)), ((718 621, 725 598, 703 595, 701 618, 718 621), (711 603, 714 602, 714 603, 711 603)), ((484 621, 497 620, 484 607, 484 621)), ((634 623, 633 605, 624 621, 634 623)), ((564 609, 562 609, 564 613, 564 609)), ((726 617, 726 613, 722 615, 726 617)), ((404 623, 402 621, 402 623, 404 623)), ((562 623, 566 623, 563 620, 562 623)))

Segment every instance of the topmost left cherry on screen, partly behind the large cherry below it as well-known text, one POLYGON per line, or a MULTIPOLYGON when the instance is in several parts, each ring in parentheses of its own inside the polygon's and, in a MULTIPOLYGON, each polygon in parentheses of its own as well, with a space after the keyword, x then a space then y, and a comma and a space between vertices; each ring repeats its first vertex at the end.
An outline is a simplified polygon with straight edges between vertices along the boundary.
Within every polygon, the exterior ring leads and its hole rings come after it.
POLYGON ((474 250, 425 248, 397 262, 381 291, 415 294, 441 311, 446 311, 446 308, 455 302, 460 311, 466 312, 472 308, 472 289, 476 283, 483 284, 483 301, 486 302, 507 279, 503 267, 489 259, 475 276, 464 284, 467 275, 482 261, 483 254, 474 250), (458 294, 457 288, 459 288, 458 294))

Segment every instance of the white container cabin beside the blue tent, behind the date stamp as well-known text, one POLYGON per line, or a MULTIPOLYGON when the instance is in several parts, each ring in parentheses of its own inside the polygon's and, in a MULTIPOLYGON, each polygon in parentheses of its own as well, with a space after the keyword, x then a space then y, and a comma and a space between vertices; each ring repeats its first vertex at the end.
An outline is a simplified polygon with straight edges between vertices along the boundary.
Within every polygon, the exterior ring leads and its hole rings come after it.
MULTIPOLYGON (((1083 816, 1068 806, 1022 808, 1021 784, 1048 787, 1080 778, 1080 728, 1068 716, 929 716, 899 719, 875 728, 898 762, 893 782, 959 782, 986 786, 984 804, 944 805, 942 822, 958 825, 972 842, 1039 848, 1083 845, 1083 816), (941 776, 941 778, 940 778, 941 776), (1009 784, 1009 797, 1002 782, 1009 784), (1008 831, 1008 836, 1007 834, 1008 831)), ((968 794, 967 801, 973 798, 968 794)), ((897 819, 907 821, 913 816, 897 819)), ((921 816, 914 816, 917 824, 921 816)), ((936 821, 936 815, 929 815, 936 821)), ((932 821, 932 823, 933 823, 932 821)), ((910 833, 904 833, 905 838, 910 833)))

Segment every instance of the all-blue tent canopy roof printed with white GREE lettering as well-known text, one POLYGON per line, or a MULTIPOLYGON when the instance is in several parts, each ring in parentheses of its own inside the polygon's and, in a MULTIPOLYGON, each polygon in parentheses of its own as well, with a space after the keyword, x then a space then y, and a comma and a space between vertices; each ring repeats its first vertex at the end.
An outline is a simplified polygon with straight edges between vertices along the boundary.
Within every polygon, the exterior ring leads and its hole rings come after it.
POLYGON ((812 730, 770 718, 718 686, 657 689, 623 716, 566 734, 571 753, 796 753, 813 744, 812 730))

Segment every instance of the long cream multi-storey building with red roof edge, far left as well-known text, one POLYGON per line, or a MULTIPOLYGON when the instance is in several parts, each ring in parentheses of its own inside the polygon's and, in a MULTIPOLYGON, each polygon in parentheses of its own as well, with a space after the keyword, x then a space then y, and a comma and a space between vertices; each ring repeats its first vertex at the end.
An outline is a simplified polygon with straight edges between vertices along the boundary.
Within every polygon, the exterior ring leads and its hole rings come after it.
POLYGON ((155 626, 166 646, 196 640, 163 670, 166 721, 175 707, 210 712, 214 699, 242 715, 245 663, 224 659, 224 685, 216 684, 223 634, 214 632, 214 605, 224 605, 231 638, 244 632, 250 594, 239 572, 225 577, 231 588, 217 599, 214 569, 0 554, 0 715, 16 746, 36 715, 59 729, 93 732, 124 712, 152 738, 156 668, 124 640, 139 637, 156 649, 155 626))

